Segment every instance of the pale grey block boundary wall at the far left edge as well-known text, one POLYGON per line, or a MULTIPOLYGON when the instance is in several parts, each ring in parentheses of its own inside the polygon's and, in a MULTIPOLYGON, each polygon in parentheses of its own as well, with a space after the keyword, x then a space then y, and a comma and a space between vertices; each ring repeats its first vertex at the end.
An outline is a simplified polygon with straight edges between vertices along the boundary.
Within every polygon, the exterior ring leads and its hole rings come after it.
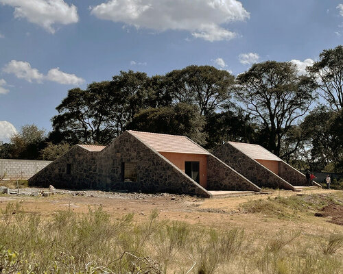
POLYGON ((51 161, 0 159, 0 176, 4 179, 29 179, 51 161))

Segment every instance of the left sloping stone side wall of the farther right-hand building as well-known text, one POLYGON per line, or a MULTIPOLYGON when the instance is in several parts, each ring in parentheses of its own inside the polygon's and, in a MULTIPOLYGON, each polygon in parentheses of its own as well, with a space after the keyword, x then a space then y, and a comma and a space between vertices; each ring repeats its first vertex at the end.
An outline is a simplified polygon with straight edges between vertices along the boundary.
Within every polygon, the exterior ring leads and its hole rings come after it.
POLYGON ((217 148, 213 154, 260 188, 268 187, 294 190, 294 187, 286 182, 285 179, 272 173, 265 166, 248 157, 228 142, 217 148))

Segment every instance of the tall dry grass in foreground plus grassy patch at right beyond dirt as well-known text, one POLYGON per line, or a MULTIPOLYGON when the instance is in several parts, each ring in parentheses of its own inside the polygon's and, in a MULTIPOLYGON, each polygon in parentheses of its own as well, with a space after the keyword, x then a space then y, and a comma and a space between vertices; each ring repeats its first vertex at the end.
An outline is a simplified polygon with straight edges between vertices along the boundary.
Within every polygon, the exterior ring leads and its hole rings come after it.
MULTIPOLYGON (((336 198, 273 198, 244 208, 255 214, 271 210, 277 219, 279 210, 288 218, 294 210, 307 214, 328 201, 336 198)), ((339 232, 265 227, 252 233, 239 226, 191 225, 163 220, 156 210, 144 221, 102 207, 45 216, 25 212, 23 203, 8 203, 0 215, 0 272, 338 274, 343 273, 342 238, 339 232)))

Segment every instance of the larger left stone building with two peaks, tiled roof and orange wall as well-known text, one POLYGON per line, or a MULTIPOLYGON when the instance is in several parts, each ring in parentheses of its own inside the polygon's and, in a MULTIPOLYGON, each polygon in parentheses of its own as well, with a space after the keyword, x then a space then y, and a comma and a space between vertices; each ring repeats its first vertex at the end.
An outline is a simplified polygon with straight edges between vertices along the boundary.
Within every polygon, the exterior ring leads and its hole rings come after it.
POLYGON ((212 190, 259 191, 185 136, 128 130, 107 147, 75 145, 29 179, 30 186, 141 190, 211 197, 212 190))

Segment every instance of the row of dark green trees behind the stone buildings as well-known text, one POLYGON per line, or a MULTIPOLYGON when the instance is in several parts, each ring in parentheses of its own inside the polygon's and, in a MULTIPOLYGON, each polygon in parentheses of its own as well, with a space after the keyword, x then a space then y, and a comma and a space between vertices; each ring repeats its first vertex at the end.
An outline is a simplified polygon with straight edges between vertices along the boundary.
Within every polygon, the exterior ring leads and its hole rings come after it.
POLYGON ((237 77, 213 66, 165 75, 121 71, 68 91, 48 134, 26 125, 0 158, 54 160, 77 143, 107 145, 126 129, 185 135, 213 149, 262 145, 298 169, 343 171, 343 47, 300 75, 291 62, 253 64, 237 77))

